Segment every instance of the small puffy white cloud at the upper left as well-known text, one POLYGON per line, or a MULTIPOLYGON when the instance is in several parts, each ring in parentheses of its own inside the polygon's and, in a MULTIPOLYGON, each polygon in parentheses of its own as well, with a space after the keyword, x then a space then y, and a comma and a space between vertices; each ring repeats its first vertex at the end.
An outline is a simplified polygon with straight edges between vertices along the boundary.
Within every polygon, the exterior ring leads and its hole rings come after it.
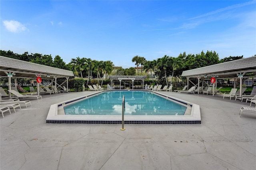
POLYGON ((3 21, 5 28, 9 31, 9 32, 23 32, 23 31, 29 31, 28 28, 26 28, 23 24, 21 24, 18 21, 15 20, 4 20, 3 21))

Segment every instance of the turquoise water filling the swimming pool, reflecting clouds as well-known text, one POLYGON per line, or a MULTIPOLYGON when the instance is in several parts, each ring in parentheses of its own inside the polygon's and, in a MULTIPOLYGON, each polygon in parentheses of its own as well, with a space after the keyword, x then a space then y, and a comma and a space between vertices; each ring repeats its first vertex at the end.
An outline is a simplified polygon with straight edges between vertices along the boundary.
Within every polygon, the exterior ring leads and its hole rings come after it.
POLYGON ((150 91, 106 91, 64 107, 65 115, 184 115, 187 107, 150 91))

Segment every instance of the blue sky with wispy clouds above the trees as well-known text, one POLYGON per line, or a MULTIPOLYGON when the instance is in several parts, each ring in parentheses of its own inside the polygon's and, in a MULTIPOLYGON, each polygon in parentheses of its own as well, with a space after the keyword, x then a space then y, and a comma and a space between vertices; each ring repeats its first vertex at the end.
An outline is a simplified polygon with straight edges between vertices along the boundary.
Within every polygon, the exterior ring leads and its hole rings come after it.
POLYGON ((111 60, 135 67, 216 51, 220 59, 256 54, 256 1, 0 1, 0 49, 111 60))

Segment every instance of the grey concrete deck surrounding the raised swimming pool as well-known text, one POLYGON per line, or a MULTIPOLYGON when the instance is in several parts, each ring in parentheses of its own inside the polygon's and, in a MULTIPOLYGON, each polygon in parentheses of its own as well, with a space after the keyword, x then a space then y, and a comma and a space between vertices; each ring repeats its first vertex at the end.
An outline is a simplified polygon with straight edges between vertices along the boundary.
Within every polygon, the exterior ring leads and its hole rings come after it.
MULTIPOLYGON (((250 103, 161 92, 200 105, 201 124, 48 124, 50 105, 93 93, 43 95, 0 119, 1 170, 256 169, 256 115, 250 103)), ((253 104, 253 107, 255 105, 253 104)))

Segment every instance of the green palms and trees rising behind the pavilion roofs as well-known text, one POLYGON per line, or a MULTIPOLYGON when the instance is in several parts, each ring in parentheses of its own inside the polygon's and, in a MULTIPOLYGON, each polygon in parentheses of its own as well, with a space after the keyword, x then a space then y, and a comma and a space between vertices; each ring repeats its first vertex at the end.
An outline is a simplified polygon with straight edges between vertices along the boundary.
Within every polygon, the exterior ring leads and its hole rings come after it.
MULTIPOLYGON (((134 67, 123 69, 122 67, 117 67, 114 71, 114 64, 112 61, 98 61, 92 60, 85 57, 72 58, 70 63, 66 64, 59 55, 56 55, 54 59, 51 55, 42 55, 39 53, 24 52, 23 54, 16 54, 12 51, 0 50, 0 55, 4 57, 10 57, 14 59, 20 59, 23 61, 28 61, 32 63, 38 63, 42 65, 48 65, 51 67, 56 67, 60 69, 67 69, 74 72, 74 75, 81 78, 87 78, 87 84, 89 79, 102 79, 105 77, 107 79, 108 75, 136 75, 136 69, 134 67)), ((132 62, 135 62, 137 67, 137 75, 142 75, 145 71, 148 74, 153 72, 158 78, 156 81, 167 84, 167 77, 171 75, 172 77, 180 77, 182 71, 189 69, 196 69, 199 67, 205 67, 208 65, 223 63, 227 61, 232 61, 236 59, 242 59, 242 56, 230 56, 223 59, 219 59, 218 53, 215 51, 207 51, 204 53, 186 54, 180 53, 178 57, 170 57, 164 55, 162 58, 157 58, 152 61, 146 60, 145 57, 134 56, 132 62), (141 72, 139 73, 138 67, 141 66, 141 72)), ((181 77, 180 77, 181 78, 181 77)), ((153 81, 153 79, 152 79, 153 81)))

